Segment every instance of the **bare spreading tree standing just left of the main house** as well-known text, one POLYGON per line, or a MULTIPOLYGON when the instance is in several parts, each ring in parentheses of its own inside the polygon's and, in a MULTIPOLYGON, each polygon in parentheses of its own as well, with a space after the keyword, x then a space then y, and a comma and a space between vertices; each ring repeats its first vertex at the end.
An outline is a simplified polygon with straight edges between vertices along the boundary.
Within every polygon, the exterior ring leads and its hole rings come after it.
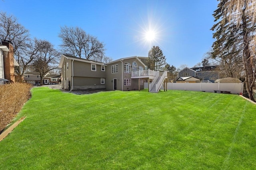
POLYGON ((40 47, 40 54, 33 61, 31 67, 34 71, 40 73, 41 84, 43 76, 58 68, 58 61, 60 53, 54 49, 54 46, 46 40, 38 40, 38 45, 40 47))

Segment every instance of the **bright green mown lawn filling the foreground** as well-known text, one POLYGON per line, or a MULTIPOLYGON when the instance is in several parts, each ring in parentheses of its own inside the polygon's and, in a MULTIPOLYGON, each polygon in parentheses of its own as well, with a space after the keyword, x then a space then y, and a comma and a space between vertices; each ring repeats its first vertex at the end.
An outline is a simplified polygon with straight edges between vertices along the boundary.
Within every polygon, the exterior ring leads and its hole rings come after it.
POLYGON ((169 90, 75 95, 33 88, 0 142, 0 169, 254 169, 256 105, 169 90))

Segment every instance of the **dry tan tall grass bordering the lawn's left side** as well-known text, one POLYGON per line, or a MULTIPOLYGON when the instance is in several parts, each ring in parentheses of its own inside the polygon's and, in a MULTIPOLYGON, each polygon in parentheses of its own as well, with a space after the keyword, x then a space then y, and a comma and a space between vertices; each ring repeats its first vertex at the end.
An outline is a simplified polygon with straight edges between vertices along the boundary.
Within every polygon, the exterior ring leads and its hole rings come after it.
POLYGON ((30 98, 31 87, 32 85, 27 83, 0 85, 0 133, 30 98))

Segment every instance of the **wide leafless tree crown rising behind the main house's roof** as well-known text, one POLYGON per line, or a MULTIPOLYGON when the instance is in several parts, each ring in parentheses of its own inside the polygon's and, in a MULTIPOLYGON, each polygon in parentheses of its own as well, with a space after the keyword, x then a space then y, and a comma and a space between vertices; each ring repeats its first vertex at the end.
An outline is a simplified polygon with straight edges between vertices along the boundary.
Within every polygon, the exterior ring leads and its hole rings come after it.
POLYGON ((62 53, 94 61, 104 57, 105 45, 79 27, 60 27, 58 37, 62 40, 62 53))

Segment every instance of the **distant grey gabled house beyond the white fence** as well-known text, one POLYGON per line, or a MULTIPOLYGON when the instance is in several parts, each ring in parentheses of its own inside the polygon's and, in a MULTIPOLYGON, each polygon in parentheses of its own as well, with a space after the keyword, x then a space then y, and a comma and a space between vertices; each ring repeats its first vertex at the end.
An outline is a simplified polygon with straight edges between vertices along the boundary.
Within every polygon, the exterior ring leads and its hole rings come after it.
POLYGON ((194 76, 202 81, 214 82, 219 78, 219 72, 216 70, 216 66, 184 68, 178 73, 178 77, 194 76))

